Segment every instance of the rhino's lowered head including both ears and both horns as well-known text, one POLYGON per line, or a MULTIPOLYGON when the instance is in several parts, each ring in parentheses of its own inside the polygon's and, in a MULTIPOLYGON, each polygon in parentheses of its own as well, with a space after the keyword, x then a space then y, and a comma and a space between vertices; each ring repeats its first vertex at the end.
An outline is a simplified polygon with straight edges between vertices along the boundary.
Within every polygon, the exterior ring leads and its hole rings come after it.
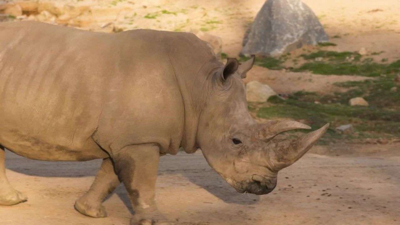
POLYGON ((264 195, 276 187, 278 171, 300 159, 329 124, 296 139, 275 139, 285 131, 310 127, 296 121, 254 122, 242 81, 253 63, 254 56, 242 64, 228 58, 212 72, 197 140, 208 164, 236 191, 264 195))

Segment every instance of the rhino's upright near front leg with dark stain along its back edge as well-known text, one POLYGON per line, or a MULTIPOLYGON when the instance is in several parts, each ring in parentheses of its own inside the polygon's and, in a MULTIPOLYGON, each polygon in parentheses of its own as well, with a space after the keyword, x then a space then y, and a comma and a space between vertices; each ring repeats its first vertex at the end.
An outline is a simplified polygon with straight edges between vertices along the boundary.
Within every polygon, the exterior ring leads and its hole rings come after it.
POLYGON ((154 201, 159 147, 153 144, 130 145, 118 151, 113 159, 135 212, 130 225, 169 225, 154 201))

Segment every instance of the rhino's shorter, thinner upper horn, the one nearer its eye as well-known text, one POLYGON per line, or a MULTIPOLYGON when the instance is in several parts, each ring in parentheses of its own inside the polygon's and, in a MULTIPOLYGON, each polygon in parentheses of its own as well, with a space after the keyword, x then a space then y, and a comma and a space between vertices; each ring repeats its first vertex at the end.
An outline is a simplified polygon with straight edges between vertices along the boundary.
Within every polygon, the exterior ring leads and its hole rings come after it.
POLYGON ((276 135, 285 132, 292 131, 296 129, 311 129, 311 127, 299 123, 297 121, 270 121, 268 123, 260 124, 256 128, 255 137, 258 140, 268 141, 274 138, 276 135))

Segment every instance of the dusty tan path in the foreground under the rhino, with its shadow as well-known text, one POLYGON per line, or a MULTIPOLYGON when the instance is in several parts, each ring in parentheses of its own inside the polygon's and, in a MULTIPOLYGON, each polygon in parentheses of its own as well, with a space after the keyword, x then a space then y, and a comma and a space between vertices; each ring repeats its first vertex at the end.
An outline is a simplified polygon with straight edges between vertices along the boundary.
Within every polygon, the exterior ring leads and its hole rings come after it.
MULTIPOLYGON (((398 153, 397 153, 398 155, 398 153)), ((0 207, 1 225, 122 225, 130 211, 123 186, 104 203, 108 218, 85 217, 74 201, 92 183, 100 161, 43 162, 6 153, 7 174, 29 201, 0 207)), ((280 172, 269 195, 241 195, 200 152, 161 160, 160 211, 176 225, 397 225, 400 156, 328 157, 308 154, 280 172)))

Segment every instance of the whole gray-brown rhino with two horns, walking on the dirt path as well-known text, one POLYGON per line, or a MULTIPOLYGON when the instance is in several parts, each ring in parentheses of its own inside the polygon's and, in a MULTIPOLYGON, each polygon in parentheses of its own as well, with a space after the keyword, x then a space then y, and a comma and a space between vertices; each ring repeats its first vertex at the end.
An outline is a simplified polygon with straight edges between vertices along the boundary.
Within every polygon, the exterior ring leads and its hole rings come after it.
POLYGON ((241 79, 254 58, 224 65, 193 34, 39 22, 4 22, 0 33, 0 205, 26 201, 5 176, 5 147, 45 161, 104 159, 75 208, 105 217, 102 201, 121 181, 135 211, 130 224, 165 225, 154 202, 160 155, 200 148, 232 187, 262 195, 328 128, 274 140, 309 127, 254 123, 241 79))

